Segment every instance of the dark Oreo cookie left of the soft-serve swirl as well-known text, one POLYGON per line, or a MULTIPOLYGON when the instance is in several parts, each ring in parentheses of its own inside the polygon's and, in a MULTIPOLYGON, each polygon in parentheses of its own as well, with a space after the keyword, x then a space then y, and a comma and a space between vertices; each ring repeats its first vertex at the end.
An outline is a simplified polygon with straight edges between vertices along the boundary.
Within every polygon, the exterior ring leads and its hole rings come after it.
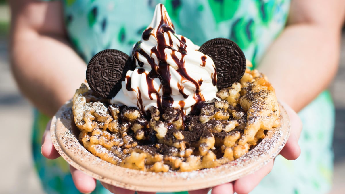
POLYGON ((111 99, 121 89, 121 81, 128 70, 135 68, 131 58, 115 49, 98 52, 86 69, 86 80, 90 88, 100 97, 111 99))

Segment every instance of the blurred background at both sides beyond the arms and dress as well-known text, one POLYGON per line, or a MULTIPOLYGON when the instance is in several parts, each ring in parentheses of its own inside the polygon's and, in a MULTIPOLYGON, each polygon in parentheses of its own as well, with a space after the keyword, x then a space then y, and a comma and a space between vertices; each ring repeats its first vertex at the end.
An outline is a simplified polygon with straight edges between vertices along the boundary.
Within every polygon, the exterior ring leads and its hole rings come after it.
MULTIPOLYGON (((0 121, 3 123, 0 153, 2 176, 0 193, 41 194, 39 180, 31 157, 31 125, 33 109, 17 89, 9 66, 8 41, 10 10, 0 0, 0 121)), ((345 192, 345 30, 337 76, 329 87, 336 106, 334 132, 334 186, 331 194, 345 192)))

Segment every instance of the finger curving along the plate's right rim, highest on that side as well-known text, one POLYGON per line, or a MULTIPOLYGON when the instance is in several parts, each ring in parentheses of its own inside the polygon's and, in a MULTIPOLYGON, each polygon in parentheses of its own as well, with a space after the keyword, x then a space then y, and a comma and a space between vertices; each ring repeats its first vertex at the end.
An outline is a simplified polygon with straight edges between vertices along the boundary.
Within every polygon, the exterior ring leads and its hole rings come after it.
POLYGON ((298 145, 298 139, 302 131, 303 125, 297 113, 288 105, 284 103, 282 104, 284 105, 284 108, 287 111, 287 114, 289 115, 289 118, 290 118, 291 132, 284 148, 280 152, 280 155, 282 155, 286 159, 294 160, 294 159, 297 159, 301 153, 300 147, 298 145))

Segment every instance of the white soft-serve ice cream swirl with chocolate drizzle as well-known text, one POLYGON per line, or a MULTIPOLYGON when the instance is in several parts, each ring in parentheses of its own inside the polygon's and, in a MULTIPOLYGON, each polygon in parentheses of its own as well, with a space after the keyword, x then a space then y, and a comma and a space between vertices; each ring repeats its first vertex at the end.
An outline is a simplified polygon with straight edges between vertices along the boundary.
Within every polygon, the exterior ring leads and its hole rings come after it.
POLYGON ((156 6, 149 27, 132 50, 136 68, 127 71, 112 104, 179 108, 185 115, 201 101, 215 98, 217 74, 213 60, 188 38, 175 34, 165 7, 156 6))

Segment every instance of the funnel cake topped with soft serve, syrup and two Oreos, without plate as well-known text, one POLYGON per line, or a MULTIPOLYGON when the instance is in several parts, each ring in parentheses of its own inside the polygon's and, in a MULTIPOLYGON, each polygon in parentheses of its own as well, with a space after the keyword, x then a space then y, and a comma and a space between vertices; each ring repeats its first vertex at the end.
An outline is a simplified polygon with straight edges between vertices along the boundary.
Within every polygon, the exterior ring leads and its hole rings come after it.
POLYGON ((140 171, 185 172, 240 158, 280 125, 274 88, 231 40, 201 47, 158 4, 131 56, 96 54, 72 102, 93 155, 140 171))

